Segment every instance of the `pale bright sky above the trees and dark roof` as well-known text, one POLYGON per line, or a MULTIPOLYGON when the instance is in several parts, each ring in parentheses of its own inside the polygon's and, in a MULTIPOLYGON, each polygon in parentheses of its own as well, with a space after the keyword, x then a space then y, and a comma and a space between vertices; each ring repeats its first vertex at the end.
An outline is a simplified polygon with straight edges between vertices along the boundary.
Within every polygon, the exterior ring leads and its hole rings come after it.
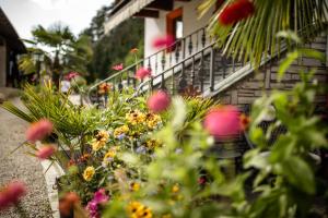
POLYGON ((0 0, 0 7, 21 38, 31 39, 31 29, 61 22, 78 35, 92 17, 113 0, 0 0))

